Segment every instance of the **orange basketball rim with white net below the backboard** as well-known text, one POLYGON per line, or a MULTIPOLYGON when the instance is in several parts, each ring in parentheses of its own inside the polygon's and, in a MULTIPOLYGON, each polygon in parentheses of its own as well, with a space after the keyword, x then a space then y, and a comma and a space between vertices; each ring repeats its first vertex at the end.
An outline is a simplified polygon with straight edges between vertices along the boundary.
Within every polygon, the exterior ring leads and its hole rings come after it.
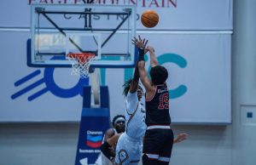
POLYGON ((90 53, 70 53, 66 55, 72 63, 72 75, 79 75, 81 78, 89 77, 90 61, 95 54, 90 53))

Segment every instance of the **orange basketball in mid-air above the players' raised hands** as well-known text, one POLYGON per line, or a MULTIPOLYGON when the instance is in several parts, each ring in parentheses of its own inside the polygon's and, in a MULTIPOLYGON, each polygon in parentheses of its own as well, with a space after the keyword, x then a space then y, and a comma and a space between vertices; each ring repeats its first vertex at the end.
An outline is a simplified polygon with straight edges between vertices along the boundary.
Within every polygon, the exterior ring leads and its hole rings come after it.
POLYGON ((151 28, 158 24, 159 16, 154 10, 148 9, 143 12, 141 21, 143 26, 151 28))

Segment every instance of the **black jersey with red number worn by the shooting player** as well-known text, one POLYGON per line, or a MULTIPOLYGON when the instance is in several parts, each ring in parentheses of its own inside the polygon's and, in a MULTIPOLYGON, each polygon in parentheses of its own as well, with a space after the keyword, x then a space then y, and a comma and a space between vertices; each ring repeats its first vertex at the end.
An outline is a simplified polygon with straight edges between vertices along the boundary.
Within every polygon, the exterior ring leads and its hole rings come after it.
POLYGON ((169 90, 165 84, 157 85, 152 98, 146 100, 146 124, 170 125, 169 90))

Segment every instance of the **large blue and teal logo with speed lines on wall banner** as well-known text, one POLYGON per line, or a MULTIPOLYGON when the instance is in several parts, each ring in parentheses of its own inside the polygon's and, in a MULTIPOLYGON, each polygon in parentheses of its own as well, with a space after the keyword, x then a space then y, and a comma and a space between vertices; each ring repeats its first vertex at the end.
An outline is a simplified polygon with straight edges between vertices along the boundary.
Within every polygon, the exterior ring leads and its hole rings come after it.
MULTIPOLYGON (((147 56, 146 56, 147 57, 147 56)), ((159 60, 160 65, 166 64, 166 63, 173 63, 175 65, 178 65, 180 68, 185 68, 187 65, 187 61, 178 54, 161 54, 157 57, 159 60)), ((146 59, 147 60, 147 59, 146 59)), ((150 69, 150 68, 148 68, 150 69)), ((16 92, 15 94, 11 95, 11 99, 15 100, 16 98, 20 97, 23 94, 26 94, 27 92, 31 91, 34 88, 37 88, 39 85, 44 84, 45 88, 40 88, 37 92, 34 94, 28 96, 27 100, 32 101, 37 99, 39 96, 50 92, 51 94, 54 94, 55 96, 61 97, 61 98, 72 98, 78 94, 83 96, 83 87, 84 85, 89 84, 88 78, 80 78, 79 82, 73 86, 72 88, 61 88, 59 87, 54 80, 54 71, 55 68, 48 67, 44 69, 44 77, 27 85, 25 88, 20 89, 20 91, 16 92)), ((105 84, 106 79, 106 71, 105 69, 101 69, 101 77, 102 77, 102 85, 105 84)), ((125 69, 125 80, 128 77, 132 76, 133 69, 125 69)), ((15 87, 19 87, 21 84, 32 81, 33 78, 36 78, 41 75, 41 70, 33 71, 31 74, 27 75, 26 77, 20 78, 20 80, 15 82, 15 87)), ((176 99, 178 97, 181 97, 183 94, 187 92, 188 88, 184 84, 180 84, 177 88, 173 88, 170 90, 170 99, 176 99)))

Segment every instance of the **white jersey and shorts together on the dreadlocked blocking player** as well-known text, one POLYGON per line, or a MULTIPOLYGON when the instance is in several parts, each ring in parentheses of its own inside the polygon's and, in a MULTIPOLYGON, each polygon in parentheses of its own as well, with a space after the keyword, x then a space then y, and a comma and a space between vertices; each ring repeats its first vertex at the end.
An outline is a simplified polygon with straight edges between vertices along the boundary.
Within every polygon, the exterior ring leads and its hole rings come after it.
POLYGON ((145 108, 138 101, 137 92, 127 94, 126 128, 116 146, 115 163, 137 165, 142 153, 142 138, 146 131, 145 108))

